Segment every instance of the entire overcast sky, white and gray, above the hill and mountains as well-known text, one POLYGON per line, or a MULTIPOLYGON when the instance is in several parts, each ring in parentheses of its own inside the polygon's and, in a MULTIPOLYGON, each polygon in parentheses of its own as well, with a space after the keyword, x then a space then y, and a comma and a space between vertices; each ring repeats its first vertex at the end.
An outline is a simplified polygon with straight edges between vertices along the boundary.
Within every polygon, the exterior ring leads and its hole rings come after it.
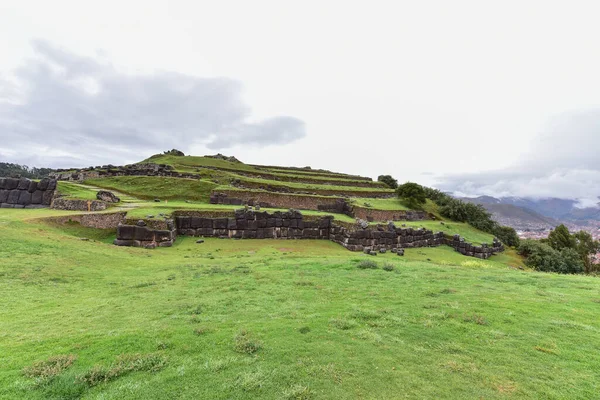
POLYGON ((600 195, 578 1, 2 1, 0 160, 178 148, 463 194, 600 195))

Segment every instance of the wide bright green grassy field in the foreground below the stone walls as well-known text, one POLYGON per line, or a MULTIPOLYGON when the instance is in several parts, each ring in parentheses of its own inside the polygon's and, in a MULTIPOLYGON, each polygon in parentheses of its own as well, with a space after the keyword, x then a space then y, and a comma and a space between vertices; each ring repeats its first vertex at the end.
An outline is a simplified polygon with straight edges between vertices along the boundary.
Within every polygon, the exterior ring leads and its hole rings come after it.
POLYGON ((148 251, 34 223, 63 214, 0 210, 2 399, 600 392, 597 278, 510 268, 511 251, 369 257, 327 241, 193 238, 148 251))

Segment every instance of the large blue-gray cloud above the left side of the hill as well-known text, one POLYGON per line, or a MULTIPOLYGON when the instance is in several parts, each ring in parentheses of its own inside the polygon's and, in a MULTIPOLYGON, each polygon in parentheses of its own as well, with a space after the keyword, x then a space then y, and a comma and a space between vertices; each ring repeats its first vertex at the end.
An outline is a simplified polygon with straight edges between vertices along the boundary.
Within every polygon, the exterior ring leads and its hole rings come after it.
POLYGON ((0 77, 0 156, 41 165, 139 160, 194 144, 286 144, 304 123, 277 116, 248 122, 241 84, 175 72, 131 75, 44 41, 35 57, 0 77))

